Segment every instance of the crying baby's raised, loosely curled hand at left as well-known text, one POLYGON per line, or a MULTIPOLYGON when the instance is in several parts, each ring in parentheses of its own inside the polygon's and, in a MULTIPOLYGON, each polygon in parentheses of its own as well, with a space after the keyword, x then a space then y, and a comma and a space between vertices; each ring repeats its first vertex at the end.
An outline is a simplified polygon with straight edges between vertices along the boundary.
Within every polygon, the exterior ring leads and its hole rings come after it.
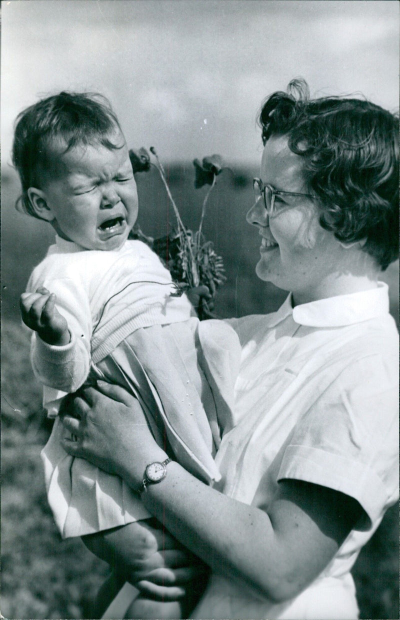
POLYGON ((61 347, 71 339, 68 324, 55 307, 56 296, 44 286, 35 293, 22 293, 19 306, 27 327, 38 333, 38 336, 49 345, 61 347))

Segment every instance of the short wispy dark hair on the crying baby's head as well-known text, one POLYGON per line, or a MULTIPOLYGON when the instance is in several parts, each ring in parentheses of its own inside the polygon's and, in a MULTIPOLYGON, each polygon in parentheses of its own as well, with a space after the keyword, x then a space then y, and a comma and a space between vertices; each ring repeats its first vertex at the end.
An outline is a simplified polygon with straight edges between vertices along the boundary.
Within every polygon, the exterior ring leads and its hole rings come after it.
POLYGON ((25 213, 39 217, 30 203, 28 189, 41 188, 43 174, 50 167, 51 148, 60 145, 66 153, 76 144, 100 143, 119 149, 123 144, 110 140, 115 130, 122 133, 110 102, 97 93, 60 92, 22 110, 16 120, 12 163, 22 184, 17 203, 25 213))

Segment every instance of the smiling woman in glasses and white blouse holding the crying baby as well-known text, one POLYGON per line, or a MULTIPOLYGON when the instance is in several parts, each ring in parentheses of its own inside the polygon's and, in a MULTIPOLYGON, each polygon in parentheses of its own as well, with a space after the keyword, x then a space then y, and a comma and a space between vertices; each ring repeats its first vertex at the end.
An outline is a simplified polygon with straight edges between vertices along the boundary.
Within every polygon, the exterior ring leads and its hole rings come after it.
POLYGON ((260 125, 247 221, 257 276, 289 294, 273 314, 229 320, 242 354, 221 482, 166 464, 116 386, 76 397, 64 426, 78 441, 64 448, 122 476, 210 566, 190 618, 349 620, 350 569, 398 500, 398 334, 379 280, 398 256, 398 119, 291 82, 260 125))

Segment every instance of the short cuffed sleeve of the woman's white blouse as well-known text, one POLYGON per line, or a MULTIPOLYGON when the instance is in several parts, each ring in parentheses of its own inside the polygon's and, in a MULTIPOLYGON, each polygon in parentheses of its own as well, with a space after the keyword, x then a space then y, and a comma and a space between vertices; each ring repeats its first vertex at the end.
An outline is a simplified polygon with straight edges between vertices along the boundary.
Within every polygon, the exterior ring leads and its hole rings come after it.
POLYGON ((296 424, 278 480, 355 498, 373 522, 398 499, 398 360, 353 361, 296 424))

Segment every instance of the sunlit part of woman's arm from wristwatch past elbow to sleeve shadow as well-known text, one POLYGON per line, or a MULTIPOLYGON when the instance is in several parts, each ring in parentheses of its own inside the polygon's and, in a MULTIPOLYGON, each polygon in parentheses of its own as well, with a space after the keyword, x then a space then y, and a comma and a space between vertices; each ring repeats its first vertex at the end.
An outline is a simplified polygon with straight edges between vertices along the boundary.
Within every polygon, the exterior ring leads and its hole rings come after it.
POLYGON ((285 494, 273 502, 271 518, 208 487, 177 463, 167 468, 166 478, 141 495, 146 508, 213 572, 246 583, 252 595, 273 602, 295 596, 337 550, 285 494))

